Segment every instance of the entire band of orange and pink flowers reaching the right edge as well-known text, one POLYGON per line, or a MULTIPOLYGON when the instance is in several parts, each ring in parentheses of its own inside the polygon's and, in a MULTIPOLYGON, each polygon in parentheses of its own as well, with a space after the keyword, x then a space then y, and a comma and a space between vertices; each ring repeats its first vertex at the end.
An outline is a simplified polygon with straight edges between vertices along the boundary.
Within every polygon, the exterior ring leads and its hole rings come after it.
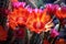
POLYGON ((18 25, 24 24, 32 32, 41 33, 45 31, 45 24, 50 22, 51 15, 55 14, 58 19, 66 19, 66 8, 58 4, 47 4, 46 9, 32 9, 25 7, 25 2, 13 2, 13 11, 8 14, 9 26, 13 30, 18 25))

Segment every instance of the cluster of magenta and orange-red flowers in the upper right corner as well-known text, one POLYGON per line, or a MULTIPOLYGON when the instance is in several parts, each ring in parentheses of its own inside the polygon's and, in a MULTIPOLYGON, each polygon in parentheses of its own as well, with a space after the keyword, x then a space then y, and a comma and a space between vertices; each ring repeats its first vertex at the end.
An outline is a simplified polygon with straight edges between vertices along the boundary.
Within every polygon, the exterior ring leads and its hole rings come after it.
POLYGON ((55 15, 61 24, 66 24, 66 6, 46 4, 47 13, 55 15))

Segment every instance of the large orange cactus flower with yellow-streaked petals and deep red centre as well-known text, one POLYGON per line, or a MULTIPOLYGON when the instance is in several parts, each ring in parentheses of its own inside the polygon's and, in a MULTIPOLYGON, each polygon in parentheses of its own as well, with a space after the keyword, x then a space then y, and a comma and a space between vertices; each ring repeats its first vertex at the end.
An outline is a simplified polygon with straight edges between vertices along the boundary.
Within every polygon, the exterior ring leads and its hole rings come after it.
POLYGON ((32 12, 30 18, 28 19, 26 26, 30 29, 30 31, 35 33, 41 33, 45 31, 44 25, 51 20, 51 16, 46 14, 46 11, 40 12, 32 12))

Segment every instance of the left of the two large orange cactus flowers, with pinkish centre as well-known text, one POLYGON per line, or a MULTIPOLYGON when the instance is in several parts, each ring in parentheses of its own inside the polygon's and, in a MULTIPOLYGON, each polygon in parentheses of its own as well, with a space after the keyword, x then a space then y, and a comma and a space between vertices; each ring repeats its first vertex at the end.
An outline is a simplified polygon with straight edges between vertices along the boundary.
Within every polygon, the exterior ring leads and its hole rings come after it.
POLYGON ((18 24, 25 24, 28 18, 26 9, 13 9, 11 13, 8 14, 9 25, 15 29, 18 24))

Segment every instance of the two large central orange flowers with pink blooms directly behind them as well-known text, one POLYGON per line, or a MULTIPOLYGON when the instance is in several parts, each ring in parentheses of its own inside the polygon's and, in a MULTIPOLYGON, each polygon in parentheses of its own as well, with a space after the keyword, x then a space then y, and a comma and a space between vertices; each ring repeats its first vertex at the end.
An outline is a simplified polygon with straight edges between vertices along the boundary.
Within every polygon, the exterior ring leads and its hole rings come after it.
POLYGON ((41 33, 45 31, 45 24, 51 21, 50 14, 47 14, 46 9, 32 9, 23 6, 24 2, 15 2, 13 4, 14 9, 8 14, 9 26, 15 30, 18 25, 26 25, 32 32, 41 33), (18 6, 19 4, 19 6, 18 6))

